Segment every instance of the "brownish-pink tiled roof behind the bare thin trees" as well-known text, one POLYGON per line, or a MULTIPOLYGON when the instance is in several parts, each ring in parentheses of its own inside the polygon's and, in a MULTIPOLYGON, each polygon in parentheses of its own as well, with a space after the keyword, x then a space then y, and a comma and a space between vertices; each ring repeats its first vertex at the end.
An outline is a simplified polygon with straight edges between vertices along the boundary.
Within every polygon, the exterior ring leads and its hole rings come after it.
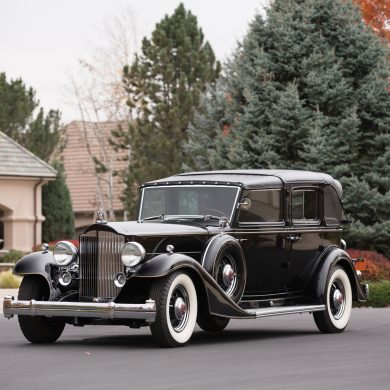
MULTIPOLYGON (((126 162, 123 156, 126 152, 115 152, 109 144, 111 131, 118 126, 117 122, 81 122, 74 121, 65 128, 65 148, 62 152, 63 164, 66 173, 66 183, 72 199, 73 210, 75 212, 94 212, 100 207, 98 197, 98 176, 95 173, 95 166, 92 156, 100 158, 99 137, 103 133, 100 141, 103 142, 107 151, 107 160, 112 161, 116 171, 125 168, 126 162)), ((105 184, 107 178, 105 174, 100 174, 101 188, 103 192, 103 206, 108 209, 108 186, 105 184)), ((120 197, 123 193, 123 183, 119 176, 114 177, 113 182, 114 209, 123 210, 120 197)))

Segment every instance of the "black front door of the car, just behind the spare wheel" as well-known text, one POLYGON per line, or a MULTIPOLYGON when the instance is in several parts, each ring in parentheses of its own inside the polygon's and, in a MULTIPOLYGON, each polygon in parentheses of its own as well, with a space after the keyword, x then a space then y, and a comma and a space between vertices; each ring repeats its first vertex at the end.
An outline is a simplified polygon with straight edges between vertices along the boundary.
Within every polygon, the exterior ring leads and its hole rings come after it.
POLYGON ((245 253, 247 282, 245 295, 272 293, 283 289, 285 218, 282 189, 247 190, 243 192, 235 237, 245 253))

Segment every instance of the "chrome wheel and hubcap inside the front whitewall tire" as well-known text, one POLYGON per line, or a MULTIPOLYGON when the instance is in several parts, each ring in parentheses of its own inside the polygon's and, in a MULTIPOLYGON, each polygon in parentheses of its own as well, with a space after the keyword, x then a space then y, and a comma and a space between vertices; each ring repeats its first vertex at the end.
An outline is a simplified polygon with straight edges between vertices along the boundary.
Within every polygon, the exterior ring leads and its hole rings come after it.
POLYGON ((177 286, 169 299, 169 320, 175 332, 181 332, 187 325, 190 302, 183 286, 177 286))

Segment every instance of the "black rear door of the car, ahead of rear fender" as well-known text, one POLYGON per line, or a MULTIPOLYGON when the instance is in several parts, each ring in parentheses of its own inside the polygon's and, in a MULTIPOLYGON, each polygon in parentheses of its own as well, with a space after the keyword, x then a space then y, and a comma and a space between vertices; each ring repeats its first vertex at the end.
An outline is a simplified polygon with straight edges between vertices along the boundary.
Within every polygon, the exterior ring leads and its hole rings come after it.
POLYGON ((288 251, 285 285, 302 290, 307 275, 322 252, 323 196, 320 186, 289 187, 288 220, 285 240, 288 251))

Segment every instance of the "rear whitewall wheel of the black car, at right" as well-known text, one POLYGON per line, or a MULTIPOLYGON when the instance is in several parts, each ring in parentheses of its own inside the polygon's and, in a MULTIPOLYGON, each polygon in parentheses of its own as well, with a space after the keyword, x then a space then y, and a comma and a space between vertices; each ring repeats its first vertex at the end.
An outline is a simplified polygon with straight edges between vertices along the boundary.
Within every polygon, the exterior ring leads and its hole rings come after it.
POLYGON ((313 313, 322 333, 340 333, 348 324, 352 311, 352 289, 346 272, 335 267, 326 286, 326 309, 313 313))

